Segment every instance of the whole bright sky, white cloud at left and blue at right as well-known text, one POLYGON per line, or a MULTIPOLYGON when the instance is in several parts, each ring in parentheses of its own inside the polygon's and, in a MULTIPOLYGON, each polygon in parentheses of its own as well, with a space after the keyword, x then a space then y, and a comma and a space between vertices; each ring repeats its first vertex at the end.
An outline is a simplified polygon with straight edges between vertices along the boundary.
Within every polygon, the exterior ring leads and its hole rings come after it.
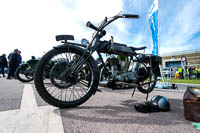
MULTIPOLYGON (((88 20, 98 24, 120 11, 139 14, 138 20, 119 20, 107 28, 109 39, 152 50, 147 20, 153 0, 2 0, 0 1, 0 54, 15 48, 27 60, 41 57, 59 43, 55 35, 72 34, 75 41, 91 40, 88 20)), ((159 0, 160 53, 200 48, 199 0, 159 0)))

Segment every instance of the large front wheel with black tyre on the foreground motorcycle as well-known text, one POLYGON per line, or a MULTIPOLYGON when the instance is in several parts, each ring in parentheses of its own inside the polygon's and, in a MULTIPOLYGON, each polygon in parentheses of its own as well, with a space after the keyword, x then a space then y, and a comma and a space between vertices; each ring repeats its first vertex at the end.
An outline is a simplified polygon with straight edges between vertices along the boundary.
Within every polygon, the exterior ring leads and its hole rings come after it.
POLYGON ((99 71, 93 58, 69 46, 49 51, 37 64, 34 83, 39 95, 49 104, 76 107, 87 101, 98 87, 99 71), (82 65, 81 62, 85 61, 82 65))

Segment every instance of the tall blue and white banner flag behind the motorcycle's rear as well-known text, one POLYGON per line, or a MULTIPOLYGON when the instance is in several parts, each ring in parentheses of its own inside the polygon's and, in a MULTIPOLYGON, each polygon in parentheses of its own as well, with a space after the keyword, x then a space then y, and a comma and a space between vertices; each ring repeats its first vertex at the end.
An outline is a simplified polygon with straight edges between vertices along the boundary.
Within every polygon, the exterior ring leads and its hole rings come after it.
POLYGON ((158 40, 158 0, 154 0, 149 12, 149 24, 152 32, 153 50, 152 54, 158 55, 159 40, 158 40))

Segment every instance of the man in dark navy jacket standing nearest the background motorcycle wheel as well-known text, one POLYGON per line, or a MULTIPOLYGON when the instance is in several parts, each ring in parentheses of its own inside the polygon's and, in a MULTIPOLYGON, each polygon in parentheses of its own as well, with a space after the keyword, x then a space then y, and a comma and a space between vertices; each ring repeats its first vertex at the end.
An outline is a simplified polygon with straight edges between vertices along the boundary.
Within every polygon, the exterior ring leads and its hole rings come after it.
POLYGON ((7 79, 12 79, 14 78, 14 73, 17 69, 17 65, 18 65, 18 49, 15 49, 14 52, 10 53, 8 56, 8 77, 7 79))

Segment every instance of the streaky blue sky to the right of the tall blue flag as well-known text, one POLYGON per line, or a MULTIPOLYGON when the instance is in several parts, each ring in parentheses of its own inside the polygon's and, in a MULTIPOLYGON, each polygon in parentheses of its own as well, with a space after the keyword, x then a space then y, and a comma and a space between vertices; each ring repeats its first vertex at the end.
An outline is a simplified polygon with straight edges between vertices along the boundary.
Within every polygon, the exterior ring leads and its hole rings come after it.
POLYGON ((161 3, 161 53, 200 48, 199 43, 195 41, 199 40, 199 37, 194 37, 200 29, 199 9, 200 4, 198 0, 171 0, 168 3, 164 1, 161 3), (191 42, 192 38, 193 43, 191 42))

